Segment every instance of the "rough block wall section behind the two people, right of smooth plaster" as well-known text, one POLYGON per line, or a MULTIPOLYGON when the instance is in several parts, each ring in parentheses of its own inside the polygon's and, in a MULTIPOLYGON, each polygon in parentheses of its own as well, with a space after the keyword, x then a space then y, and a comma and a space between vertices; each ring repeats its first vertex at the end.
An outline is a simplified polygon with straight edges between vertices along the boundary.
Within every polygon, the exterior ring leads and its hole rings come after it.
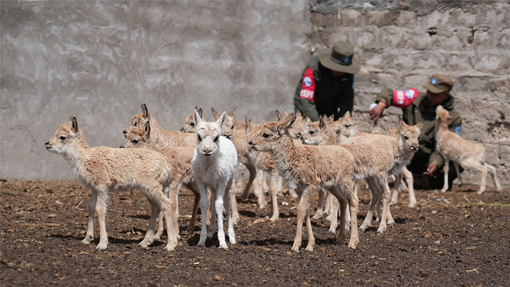
MULTIPOLYGON (((451 94, 463 117, 462 137, 480 143, 488 163, 508 186, 510 164, 510 26, 508 1, 311 1, 311 50, 335 41, 354 45, 354 110, 360 130, 370 131, 370 103, 385 87, 421 86, 440 72, 454 80, 451 94)), ((390 107, 378 126, 396 128, 401 109, 390 107)), ((465 182, 481 173, 465 171, 465 182)), ((488 186, 494 186, 488 178, 488 186)))

